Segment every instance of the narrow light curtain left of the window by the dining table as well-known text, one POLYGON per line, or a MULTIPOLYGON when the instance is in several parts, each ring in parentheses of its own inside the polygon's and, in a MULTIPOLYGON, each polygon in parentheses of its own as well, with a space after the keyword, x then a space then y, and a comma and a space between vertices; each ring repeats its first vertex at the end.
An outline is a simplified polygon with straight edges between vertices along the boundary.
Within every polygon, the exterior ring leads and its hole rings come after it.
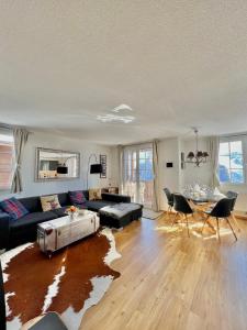
POLYGON ((220 178, 218 178, 218 150, 220 150, 220 138, 212 136, 209 141, 209 151, 211 156, 211 164, 212 164, 212 179, 211 185, 212 187, 220 186, 220 178))

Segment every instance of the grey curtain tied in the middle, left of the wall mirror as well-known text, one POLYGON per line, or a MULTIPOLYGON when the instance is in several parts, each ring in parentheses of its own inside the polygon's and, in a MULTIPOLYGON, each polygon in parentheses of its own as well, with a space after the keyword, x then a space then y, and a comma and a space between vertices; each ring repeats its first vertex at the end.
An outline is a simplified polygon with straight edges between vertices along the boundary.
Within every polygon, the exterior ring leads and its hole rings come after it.
POLYGON ((11 193, 21 193, 23 190, 21 167, 23 150, 29 139, 29 132, 24 129, 14 129, 14 155, 15 155, 15 169, 13 174, 13 180, 11 185, 11 193))

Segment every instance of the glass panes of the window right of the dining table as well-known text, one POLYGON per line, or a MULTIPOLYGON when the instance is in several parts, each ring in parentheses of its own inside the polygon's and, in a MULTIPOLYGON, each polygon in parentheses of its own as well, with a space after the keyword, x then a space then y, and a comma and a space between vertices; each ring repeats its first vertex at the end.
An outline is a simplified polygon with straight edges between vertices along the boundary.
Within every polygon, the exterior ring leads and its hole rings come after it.
POLYGON ((218 176, 222 184, 239 185, 245 183, 242 140, 220 143, 218 176))

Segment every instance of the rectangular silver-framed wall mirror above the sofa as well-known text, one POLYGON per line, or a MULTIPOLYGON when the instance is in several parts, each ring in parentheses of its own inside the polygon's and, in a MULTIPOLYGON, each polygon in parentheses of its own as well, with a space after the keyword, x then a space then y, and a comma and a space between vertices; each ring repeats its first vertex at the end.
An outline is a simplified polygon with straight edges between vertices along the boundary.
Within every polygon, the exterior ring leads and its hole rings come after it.
POLYGON ((44 182, 78 178, 80 175, 79 170, 79 153, 44 147, 36 148, 36 180, 44 182))

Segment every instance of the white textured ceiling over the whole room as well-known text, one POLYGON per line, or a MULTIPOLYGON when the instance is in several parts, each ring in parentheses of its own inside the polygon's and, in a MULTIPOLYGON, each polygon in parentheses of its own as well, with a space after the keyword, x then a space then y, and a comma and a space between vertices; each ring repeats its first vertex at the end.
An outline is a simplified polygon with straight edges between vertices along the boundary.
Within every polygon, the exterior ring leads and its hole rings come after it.
POLYGON ((247 1, 0 1, 0 122, 103 144, 246 131, 247 1), (97 120, 121 103, 133 123, 97 120))

